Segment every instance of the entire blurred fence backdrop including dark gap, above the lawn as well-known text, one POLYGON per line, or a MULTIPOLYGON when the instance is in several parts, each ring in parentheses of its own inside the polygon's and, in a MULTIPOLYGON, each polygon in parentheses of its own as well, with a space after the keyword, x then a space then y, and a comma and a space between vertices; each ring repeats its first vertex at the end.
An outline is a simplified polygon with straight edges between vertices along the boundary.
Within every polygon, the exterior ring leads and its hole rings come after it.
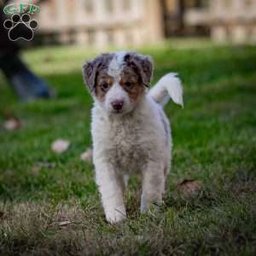
POLYGON ((256 42, 255 0, 45 0, 35 44, 154 44, 172 37, 256 42))

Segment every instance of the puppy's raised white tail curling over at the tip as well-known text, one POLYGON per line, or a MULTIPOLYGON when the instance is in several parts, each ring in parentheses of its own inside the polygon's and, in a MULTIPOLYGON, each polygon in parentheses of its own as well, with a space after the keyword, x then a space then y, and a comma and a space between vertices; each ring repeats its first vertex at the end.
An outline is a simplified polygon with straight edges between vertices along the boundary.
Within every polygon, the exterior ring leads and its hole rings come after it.
POLYGON ((183 87, 180 79, 177 77, 177 73, 167 73, 163 76, 148 91, 148 95, 163 107, 172 98, 173 102, 181 105, 183 108, 183 87))

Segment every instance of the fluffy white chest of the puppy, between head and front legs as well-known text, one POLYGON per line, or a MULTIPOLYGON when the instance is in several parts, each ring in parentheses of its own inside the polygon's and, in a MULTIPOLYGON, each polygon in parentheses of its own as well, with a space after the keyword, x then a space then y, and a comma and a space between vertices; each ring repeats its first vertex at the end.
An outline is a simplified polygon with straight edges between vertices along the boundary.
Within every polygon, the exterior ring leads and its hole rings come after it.
POLYGON ((158 109, 149 103, 125 116, 108 116, 101 108, 93 109, 91 132, 97 160, 108 160, 120 172, 138 172, 148 159, 161 154, 166 134, 158 109))

